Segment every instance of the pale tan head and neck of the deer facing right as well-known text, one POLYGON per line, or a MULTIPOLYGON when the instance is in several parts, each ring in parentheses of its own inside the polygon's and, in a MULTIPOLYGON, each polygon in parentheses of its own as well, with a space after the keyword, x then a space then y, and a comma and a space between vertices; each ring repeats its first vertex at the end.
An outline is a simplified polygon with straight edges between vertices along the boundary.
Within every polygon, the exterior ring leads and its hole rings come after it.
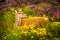
POLYGON ((15 10, 15 18, 16 18, 16 25, 20 26, 21 25, 21 19, 27 18, 27 14, 24 14, 22 12, 22 9, 20 10, 15 10))

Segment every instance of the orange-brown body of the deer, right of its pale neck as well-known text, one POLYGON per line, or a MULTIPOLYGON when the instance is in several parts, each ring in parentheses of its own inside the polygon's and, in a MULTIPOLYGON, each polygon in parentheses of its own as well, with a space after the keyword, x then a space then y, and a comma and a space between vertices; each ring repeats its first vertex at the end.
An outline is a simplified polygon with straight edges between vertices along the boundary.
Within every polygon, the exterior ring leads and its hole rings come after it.
POLYGON ((42 23, 45 23, 46 21, 48 20, 48 18, 45 18, 45 17, 33 17, 33 18, 27 18, 27 19, 22 19, 21 20, 21 25, 24 26, 24 25, 35 25, 37 26, 38 24, 42 24, 42 23))

